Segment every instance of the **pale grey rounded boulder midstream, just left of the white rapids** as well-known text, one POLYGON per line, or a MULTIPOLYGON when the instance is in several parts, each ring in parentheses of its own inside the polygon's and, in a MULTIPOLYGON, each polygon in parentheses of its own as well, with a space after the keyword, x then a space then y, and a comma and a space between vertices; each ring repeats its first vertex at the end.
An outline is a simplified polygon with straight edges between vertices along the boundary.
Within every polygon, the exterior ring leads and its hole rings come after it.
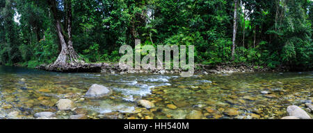
POLYGON ((85 97, 100 98, 103 96, 108 96, 109 94, 111 94, 111 90, 109 88, 104 87, 103 85, 94 84, 88 89, 85 97))

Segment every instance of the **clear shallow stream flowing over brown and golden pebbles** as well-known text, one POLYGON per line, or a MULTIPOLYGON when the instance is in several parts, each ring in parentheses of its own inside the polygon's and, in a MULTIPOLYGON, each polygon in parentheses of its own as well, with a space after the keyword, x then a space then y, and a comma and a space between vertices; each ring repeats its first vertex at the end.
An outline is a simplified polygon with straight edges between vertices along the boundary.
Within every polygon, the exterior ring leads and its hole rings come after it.
MULTIPOLYGON (((88 118, 281 118, 288 105, 312 103, 313 72, 179 75, 54 73, 0 66, 0 118, 34 118, 36 112, 58 111, 68 98, 88 118), (83 98, 93 84, 113 94, 83 98), (261 91, 268 91, 262 94, 261 91), (138 106, 149 100, 155 107, 138 106), (10 112, 19 112, 12 115, 10 112)), ((77 112, 76 112, 77 113, 77 112)))

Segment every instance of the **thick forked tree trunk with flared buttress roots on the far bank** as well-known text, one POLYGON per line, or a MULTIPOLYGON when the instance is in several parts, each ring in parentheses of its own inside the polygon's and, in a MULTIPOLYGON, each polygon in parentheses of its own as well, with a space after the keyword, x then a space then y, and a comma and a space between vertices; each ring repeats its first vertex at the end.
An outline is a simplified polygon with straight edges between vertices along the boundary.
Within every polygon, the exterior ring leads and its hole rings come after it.
POLYGON ((61 52, 56 59, 56 62, 52 64, 51 69, 67 69, 67 67, 71 67, 74 64, 83 63, 82 60, 79 60, 79 55, 74 51, 72 44, 72 7, 70 0, 67 2, 67 34, 68 34, 68 42, 65 42, 65 37, 63 34, 63 30, 61 27, 61 22, 58 19, 57 9, 56 9, 56 0, 49 0, 49 6, 51 12, 54 15, 54 21, 56 23, 56 31, 58 33, 58 38, 60 39, 61 44, 61 52))

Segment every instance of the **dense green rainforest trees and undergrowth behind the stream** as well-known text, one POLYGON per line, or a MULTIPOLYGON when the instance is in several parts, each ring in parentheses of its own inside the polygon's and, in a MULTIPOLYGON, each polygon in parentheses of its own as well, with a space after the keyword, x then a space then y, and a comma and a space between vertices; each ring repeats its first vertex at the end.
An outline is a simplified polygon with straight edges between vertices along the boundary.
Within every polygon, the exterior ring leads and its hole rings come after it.
POLYGON ((120 46, 194 45, 195 62, 312 69, 310 0, 0 0, 0 64, 118 62, 120 46))

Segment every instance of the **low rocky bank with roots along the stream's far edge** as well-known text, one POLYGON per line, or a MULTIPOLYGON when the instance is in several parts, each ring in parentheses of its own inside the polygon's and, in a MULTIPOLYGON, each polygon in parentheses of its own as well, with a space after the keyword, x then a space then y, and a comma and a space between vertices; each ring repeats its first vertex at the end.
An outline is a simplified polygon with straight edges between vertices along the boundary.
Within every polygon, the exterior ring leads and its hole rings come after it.
MULTIPOLYGON (((57 71, 57 72, 93 72, 93 73, 153 73, 153 74, 177 74, 181 73, 182 69, 174 70, 136 70, 136 69, 122 69, 119 64, 114 63, 94 63, 94 64, 77 64, 67 69, 54 69, 50 67, 51 65, 42 64, 36 69, 46 70, 46 71, 57 71)), ((201 74, 220 74, 220 73, 245 73, 245 72, 284 72, 290 71, 290 67, 278 67, 277 69, 270 69, 268 67, 261 66, 249 66, 246 64, 220 64, 220 65, 204 65, 204 64, 195 64, 195 73, 201 74)))

